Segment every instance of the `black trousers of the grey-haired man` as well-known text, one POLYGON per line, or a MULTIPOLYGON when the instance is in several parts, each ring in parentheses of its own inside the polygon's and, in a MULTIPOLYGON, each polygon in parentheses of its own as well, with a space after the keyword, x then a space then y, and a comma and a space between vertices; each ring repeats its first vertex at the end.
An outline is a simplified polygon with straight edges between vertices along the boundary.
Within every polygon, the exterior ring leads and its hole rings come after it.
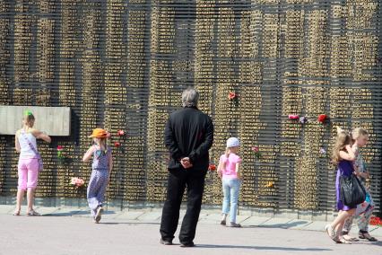
POLYGON ((193 242, 202 207, 204 177, 205 174, 195 176, 184 169, 169 172, 167 198, 161 215, 162 240, 174 239, 174 233, 178 227, 180 204, 187 187, 187 211, 180 228, 179 241, 185 244, 193 242))

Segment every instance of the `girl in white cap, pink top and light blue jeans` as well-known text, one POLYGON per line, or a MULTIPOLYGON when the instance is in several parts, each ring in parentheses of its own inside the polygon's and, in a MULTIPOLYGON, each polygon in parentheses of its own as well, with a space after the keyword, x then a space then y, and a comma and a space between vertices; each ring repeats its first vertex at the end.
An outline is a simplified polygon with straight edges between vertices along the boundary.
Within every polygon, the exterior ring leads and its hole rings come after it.
POLYGON ((230 137, 227 140, 225 154, 221 155, 218 165, 218 174, 222 180, 222 189, 224 194, 221 224, 230 227, 241 227, 240 224, 236 223, 239 190, 241 185, 241 174, 239 171, 241 159, 237 155, 239 152, 239 145, 240 142, 238 138, 230 137), (227 215, 229 213, 230 223, 226 224, 227 215))

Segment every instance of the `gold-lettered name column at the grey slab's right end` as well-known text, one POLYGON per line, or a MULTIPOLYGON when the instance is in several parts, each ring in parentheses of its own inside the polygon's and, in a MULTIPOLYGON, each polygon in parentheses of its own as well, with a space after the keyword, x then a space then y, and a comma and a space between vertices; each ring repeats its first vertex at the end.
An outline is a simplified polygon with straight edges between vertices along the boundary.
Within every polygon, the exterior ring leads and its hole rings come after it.
MULTIPOLYGON (((81 113, 81 105, 79 98, 76 96, 77 89, 80 91, 81 86, 77 83, 80 79, 81 70, 77 60, 80 45, 82 45, 80 36, 80 8, 81 4, 75 0, 61 1, 61 19, 60 19, 60 41, 59 41, 59 105, 71 107, 75 114, 81 113)), ((56 42, 58 43, 58 42, 56 42)), ((80 127, 79 119, 71 119, 72 136, 76 139, 77 132, 80 127)), ((68 158, 69 163, 57 164, 57 171, 62 173, 58 176, 57 182, 59 187, 62 187, 62 192, 65 197, 76 197, 77 192, 70 184, 72 177, 79 177, 78 171, 81 164, 82 154, 76 151, 75 141, 59 142, 59 145, 64 147, 64 155, 68 158)), ((89 143, 87 142, 86 145, 89 143)))

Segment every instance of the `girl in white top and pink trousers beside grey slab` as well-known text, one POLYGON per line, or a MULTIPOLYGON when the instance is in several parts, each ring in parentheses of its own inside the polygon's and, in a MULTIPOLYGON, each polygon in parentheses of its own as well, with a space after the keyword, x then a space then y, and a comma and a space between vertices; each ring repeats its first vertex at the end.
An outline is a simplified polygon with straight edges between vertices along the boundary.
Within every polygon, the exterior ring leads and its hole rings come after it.
POLYGON ((43 134, 39 130, 33 128, 34 116, 30 110, 24 112, 22 119, 22 129, 17 130, 15 136, 15 149, 20 154, 18 164, 18 188, 16 199, 16 210, 13 215, 20 215, 22 209, 22 198, 24 197, 25 190, 27 190, 28 209, 27 215, 39 215, 33 210, 34 192, 37 187, 39 178, 41 156, 37 148, 36 139, 42 139, 50 143, 49 136, 43 134))

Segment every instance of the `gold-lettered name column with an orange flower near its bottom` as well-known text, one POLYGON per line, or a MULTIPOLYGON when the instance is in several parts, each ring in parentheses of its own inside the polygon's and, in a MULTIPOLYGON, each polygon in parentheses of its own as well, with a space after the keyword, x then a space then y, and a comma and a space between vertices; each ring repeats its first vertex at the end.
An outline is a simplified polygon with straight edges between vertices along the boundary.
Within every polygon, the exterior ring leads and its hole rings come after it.
POLYGON ((267 124, 260 133, 258 139, 259 151, 262 154, 260 160, 256 161, 255 189, 258 192, 257 206, 276 207, 277 205, 277 183, 279 164, 275 162, 280 147, 275 143, 278 140, 280 130, 280 80, 279 80, 279 58, 280 51, 280 1, 261 1, 259 10, 253 15, 260 20, 256 28, 260 34, 259 60, 262 64, 262 116, 267 124), (272 123, 272 125, 271 125, 272 123))

